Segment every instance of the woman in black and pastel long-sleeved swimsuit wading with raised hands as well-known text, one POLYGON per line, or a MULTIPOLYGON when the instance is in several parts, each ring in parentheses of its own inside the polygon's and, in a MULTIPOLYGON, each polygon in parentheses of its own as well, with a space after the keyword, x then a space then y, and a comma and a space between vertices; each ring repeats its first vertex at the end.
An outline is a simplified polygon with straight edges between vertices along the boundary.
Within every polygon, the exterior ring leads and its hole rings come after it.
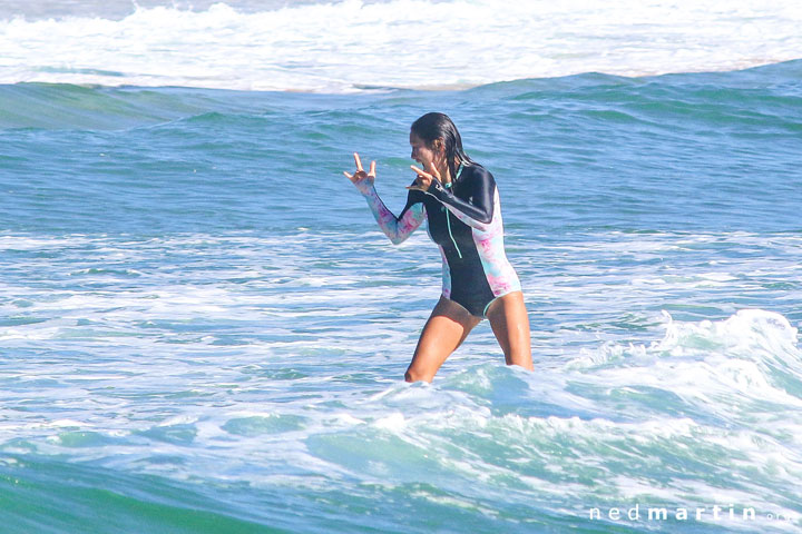
POLYGON ((451 119, 427 113, 410 129, 412 166, 407 206, 395 217, 376 195, 375 161, 368 172, 354 154, 356 171, 345 176, 368 200, 393 244, 407 239, 423 219, 443 259, 443 289, 418 340, 407 382, 431 382, 470 330, 487 317, 507 365, 532 369, 529 317, 520 281, 503 250, 503 227, 496 181, 462 150, 451 119))

